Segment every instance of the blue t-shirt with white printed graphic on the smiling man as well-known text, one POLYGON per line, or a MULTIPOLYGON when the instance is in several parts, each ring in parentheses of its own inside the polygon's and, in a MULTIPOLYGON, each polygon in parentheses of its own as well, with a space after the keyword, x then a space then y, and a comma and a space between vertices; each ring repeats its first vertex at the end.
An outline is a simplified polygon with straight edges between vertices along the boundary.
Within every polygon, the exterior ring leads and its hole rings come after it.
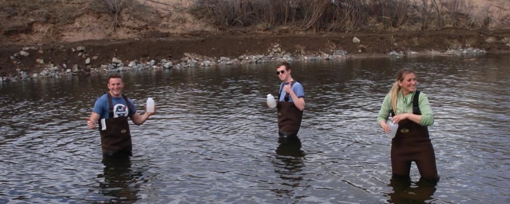
MULTIPOLYGON (((131 107, 133 107, 134 110, 131 110, 127 107, 126 101, 124 98, 119 97, 116 98, 112 96, 112 104, 113 104, 113 117, 124 117, 124 116, 132 116, 136 113, 136 106, 133 104, 133 101, 129 98, 127 98, 129 103, 131 104, 131 107)), ((110 105, 108 104, 108 94, 103 94, 101 97, 97 98, 96 103, 94 105, 94 109, 92 109, 92 112, 99 114, 103 118, 109 118, 110 117, 110 105)))

